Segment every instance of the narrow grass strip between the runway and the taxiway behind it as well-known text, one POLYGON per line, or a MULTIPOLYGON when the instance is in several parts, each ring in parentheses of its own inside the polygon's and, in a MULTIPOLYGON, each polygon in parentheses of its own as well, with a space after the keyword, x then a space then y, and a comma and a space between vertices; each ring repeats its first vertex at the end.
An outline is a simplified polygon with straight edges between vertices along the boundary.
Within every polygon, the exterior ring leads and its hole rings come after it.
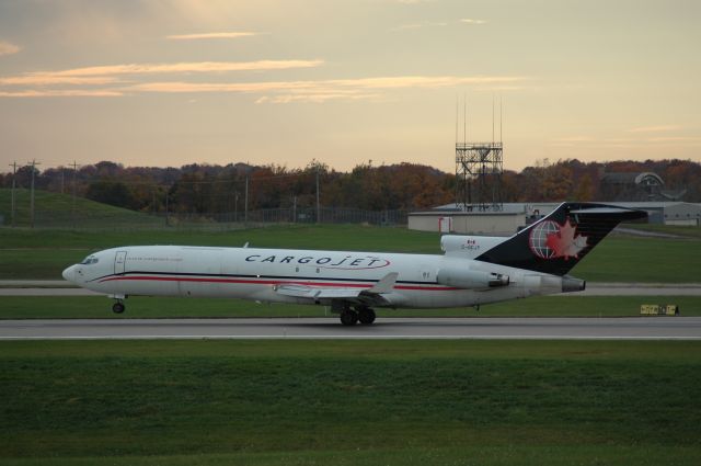
MULTIPOLYGON (((458 309, 377 309, 379 317, 634 317, 641 304, 676 304, 682 316, 701 316, 693 296, 544 296, 458 309)), ((324 317, 323 306, 256 304, 241 299, 131 297, 112 312, 102 296, 3 296, 0 319, 140 319, 186 317, 324 317)))

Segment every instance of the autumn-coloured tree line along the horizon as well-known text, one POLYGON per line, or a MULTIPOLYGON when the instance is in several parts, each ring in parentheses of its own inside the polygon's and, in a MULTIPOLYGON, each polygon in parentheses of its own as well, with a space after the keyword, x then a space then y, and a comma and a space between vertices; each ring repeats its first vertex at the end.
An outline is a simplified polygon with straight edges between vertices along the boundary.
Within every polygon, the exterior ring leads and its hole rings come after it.
MULTIPOLYGON (((502 175, 503 202, 614 201, 605 198, 604 173, 655 172, 665 187, 686 190, 688 202, 701 202, 701 164, 691 160, 582 162, 539 160, 520 172, 502 175)), ((28 187, 31 167, 14 175, 28 187)), ((324 207, 366 211, 422 209, 456 201, 456 175, 417 163, 359 163, 340 172, 312 160, 304 168, 192 163, 181 168, 124 167, 112 161, 79 167, 34 169, 35 187, 76 194, 135 211, 232 213, 248 209, 324 207)), ((13 174, 1 173, 10 187, 13 174)), ((623 201, 623 200, 619 200, 623 201)))

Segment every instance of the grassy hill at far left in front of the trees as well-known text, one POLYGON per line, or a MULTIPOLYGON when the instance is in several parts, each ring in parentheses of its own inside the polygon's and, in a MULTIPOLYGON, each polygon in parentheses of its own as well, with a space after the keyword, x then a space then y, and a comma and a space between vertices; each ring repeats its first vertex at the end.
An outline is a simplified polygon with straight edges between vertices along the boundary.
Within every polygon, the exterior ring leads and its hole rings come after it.
MULTIPOLYGON (((30 190, 15 190, 15 226, 27 227, 31 223, 30 190)), ((70 194, 57 194, 36 190, 34 193, 34 224, 36 227, 50 228, 119 228, 119 227, 152 227, 163 224, 163 220, 139 212, 101 204, 70 194)), ((0 189, 0 215, 2 225, 12 221, 12 190, 0 189)))

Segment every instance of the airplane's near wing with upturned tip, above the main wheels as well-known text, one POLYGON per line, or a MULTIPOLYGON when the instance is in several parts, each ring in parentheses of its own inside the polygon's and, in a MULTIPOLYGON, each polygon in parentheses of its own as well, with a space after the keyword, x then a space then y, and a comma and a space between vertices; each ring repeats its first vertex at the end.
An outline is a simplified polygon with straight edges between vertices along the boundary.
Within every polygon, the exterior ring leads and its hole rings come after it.
POLYGON ((399 273, 388 273, 370 288, 348 288, 348 287, 330 287, 313 285, 275 285, 273 289, 279 295, 291 296, 296 298, 307 298, 311 300, 344 300, 353 304, 365 305, 384 305, 387 299, 382 297, 383 293, 391 293, 394 282, 399 273))

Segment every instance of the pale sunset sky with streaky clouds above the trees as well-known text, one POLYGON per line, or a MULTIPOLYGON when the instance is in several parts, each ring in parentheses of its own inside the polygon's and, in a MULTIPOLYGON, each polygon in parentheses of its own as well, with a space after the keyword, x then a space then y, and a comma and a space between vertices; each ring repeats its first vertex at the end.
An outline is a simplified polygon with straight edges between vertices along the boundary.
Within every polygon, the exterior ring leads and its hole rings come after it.
POLYGON ((698 0, 0 0, 0 171, 453 172, 494 139, 512 170, 700 161, 699 24, 698 0))

